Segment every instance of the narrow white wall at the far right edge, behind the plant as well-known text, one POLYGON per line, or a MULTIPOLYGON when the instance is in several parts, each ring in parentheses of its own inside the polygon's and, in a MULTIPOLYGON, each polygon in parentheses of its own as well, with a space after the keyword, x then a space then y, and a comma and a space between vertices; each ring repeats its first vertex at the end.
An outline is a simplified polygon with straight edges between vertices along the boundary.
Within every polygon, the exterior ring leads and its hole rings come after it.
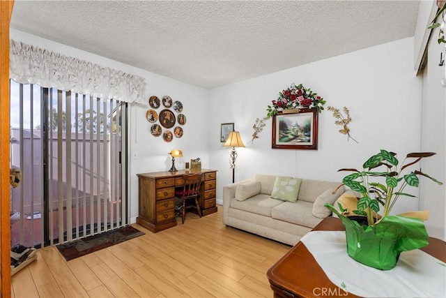
MULTIPOLYGON (((446 182, 446 88, 440 80, 444 66, 438 66, 440 53, 445 44, 438 45, 438 29, 433 31, 427 48, 427 62, 424 69, 422 105, 422 151, 436 152, 436 156, 422 161, 422 172, 446 182)), ((443 56, 444 57, 444 56, 443 56)), ((431 237, 446 239, 446 188, 422 179, 420 183, 420 209, 429 210, 426 229, 431 237)))

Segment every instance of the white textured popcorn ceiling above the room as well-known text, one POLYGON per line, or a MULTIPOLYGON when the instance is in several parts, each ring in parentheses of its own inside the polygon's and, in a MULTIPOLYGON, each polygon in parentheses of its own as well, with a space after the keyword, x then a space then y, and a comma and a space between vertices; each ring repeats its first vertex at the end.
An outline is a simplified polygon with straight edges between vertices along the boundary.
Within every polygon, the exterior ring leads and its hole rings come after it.
POLYGON ((15 0, 11 27, 210 89, 413 36, 419 4, 15 0))

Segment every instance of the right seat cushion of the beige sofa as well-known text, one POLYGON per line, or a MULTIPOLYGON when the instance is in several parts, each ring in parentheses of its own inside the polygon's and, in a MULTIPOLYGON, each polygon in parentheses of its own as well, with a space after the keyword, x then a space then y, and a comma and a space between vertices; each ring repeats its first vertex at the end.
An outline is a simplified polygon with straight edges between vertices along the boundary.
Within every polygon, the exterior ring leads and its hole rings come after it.
POLYGON ((313 204, 305 201, 284 202, 272 208, 271 217, 280 221, 287 221, 296 225, 314 228, 322 221, 321 218, 313 216, 313 204))

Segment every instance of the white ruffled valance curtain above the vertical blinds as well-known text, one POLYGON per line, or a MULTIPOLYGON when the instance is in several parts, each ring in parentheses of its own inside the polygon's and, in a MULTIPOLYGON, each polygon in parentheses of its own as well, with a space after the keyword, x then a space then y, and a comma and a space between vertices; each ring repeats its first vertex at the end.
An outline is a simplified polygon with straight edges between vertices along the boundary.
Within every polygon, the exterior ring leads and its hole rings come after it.
POLYGON ((148 104, 143 77, 15 40, 10 40, 10 78, 22 84, 148 104))

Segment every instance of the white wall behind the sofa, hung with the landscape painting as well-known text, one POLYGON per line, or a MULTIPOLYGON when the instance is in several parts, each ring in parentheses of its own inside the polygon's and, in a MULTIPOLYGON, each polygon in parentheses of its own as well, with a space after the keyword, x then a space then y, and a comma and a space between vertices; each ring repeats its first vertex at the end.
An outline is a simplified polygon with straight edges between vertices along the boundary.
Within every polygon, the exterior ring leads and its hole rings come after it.
MULTIPOLYGON (((220 132, 220 124, 234 122, 247 145, 237 149, 236 181, 256 173, 341 181, 345 174, 338 169, 361 170, 362 163, 381 148, 400 158, 420 151, 422 79, 414 75, 413 49, 413 38, 404 38, 211 90, 210 110, 219 111, 210 121, 211 134, 220 132), (327 110, 319 115, 317 151, 271 149, 270 119, 259 139, 247 144, 255 119, 264 117, 271 100, 293 82, 323 96, 325 107, 348 107, 351 135, 359 144, 347 142, 327 110)), ((221 200, 222 186, 231 182, 230 149, 222 147, 216 135, 210 151, 210 167, 219 170, 217 200, 221 200)), ((411 192, 418 195, 417 188, 411 192)), ((416 198, 399 203, 395 212, 418 209, 416 198)))

